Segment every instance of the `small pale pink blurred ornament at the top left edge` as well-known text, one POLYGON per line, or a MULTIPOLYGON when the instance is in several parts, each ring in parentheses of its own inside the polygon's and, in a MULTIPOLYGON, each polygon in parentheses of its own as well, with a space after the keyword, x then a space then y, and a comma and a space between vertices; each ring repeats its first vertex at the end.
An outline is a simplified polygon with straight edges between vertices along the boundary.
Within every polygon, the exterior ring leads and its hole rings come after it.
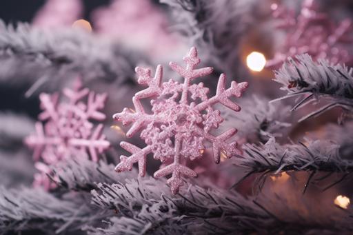
POLYGON ((82 12, 81 0, 48 0, 32 23, 40 28, 70 27, 82 12))

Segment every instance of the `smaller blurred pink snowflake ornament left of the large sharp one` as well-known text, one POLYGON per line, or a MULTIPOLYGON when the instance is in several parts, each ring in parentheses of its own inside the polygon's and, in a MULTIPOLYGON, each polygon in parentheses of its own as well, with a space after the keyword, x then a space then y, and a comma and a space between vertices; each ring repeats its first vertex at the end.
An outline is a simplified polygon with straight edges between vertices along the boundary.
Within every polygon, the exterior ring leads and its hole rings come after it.
MULTIPOLYGON (((25 143, 34 149, 35 161, 41 158, 48 165, 71 156, 85 156, 98 161, 98 154, 106 150, 110 143, 102 134, 103 125, 94 127, 91 121, 105 119, 105 114, 99 110, 104 107, 106 94, 81 89, 79 80, 74 90, 65 88, 63 94, 67 101, 61 103, 58 94, 40 94, 43 112, 39 114, 39 119, 43 123, 36 123, 37 133, 28 136, 25 143)), ((44 173, 48 173, 48 169, 44 173)))

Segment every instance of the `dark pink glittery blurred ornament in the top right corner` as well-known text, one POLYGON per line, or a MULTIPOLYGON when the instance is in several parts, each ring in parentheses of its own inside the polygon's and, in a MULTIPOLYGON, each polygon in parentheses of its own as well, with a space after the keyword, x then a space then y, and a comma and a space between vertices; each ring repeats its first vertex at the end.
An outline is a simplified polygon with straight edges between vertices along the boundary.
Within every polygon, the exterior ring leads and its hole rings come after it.
POLYGON ((298 54, 310 54, 313 59, 328 59, 331 63, 353 63, 348 45, 353 42, 352 21, 345 19, 338 25, 330 17, 319 12, 314 0, 303 1, 301 12, 296 17, 276 3, 271 6, 273 17, 279 19, 277 28, 285 30, 287 36, 284 45, 266 67, 278 68, 288 57, 298 54))

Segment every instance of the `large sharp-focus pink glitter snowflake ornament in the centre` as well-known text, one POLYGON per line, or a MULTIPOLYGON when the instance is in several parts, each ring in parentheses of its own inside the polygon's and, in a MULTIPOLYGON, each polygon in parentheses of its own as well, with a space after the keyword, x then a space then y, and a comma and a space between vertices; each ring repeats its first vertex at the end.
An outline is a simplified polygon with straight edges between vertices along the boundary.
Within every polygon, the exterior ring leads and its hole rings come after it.
POLYGON ((164 164, 161 169, 154 173, 154 177, 168 176, 168 184, 172 193, 179 192, 183 185, 182 176, 196 177, 197 174, 189 167, 183 165, 183 159, 199 159, 203 156, 205 142, 212 143, 214 161, 219 163, 220 152, 225 156, 239 154, 236 142, 227 143, 236 133, 234 128, 215 136, 210 130, 219 127, 223 121, 219 110, 214 110, 212 105, 222 103, 228 108, 239 111, 239 105, 231 101, 231 96, 240 97, 242 92, 248 88, 248 83, 236 83, 232 81, 230 88, 225 90, 225 75, 219 76, 216 95, 208 99, 208 88, 203 83, 190 84, 192 80, 212 73, 212 68, 195 69, 200 63, 196 48, 191 48, 186 57, 183 58, 186 67, 170 62, 172 70, 180 74, 184 82, 178 83, 170 79, 162 83, 163 68, 157 66, 155 75, 151 76, 151 70, 147 68, 136 68, 138 82, 148 85, 148 88, 137 92, 132 98, 135 112, 125 108, 123 112, 114 114, 114 119, 122 121, 123 125, 132 124, 126 136, 131 137, 139 130, 141 139, 146 143, 143 149, 131 143, 121 142, 130 157, 120 156, 121 162, 115 170, 122 172, 132 170, 132 165, 138 163, 140 176, 145 175, 146 156, 150 153, 154 159, 159 159, 164 164), (145 112, 141 99, 154 98, 151 101, 152 114, 145 112), (192 101, 192 102, 190 102, 192 101))

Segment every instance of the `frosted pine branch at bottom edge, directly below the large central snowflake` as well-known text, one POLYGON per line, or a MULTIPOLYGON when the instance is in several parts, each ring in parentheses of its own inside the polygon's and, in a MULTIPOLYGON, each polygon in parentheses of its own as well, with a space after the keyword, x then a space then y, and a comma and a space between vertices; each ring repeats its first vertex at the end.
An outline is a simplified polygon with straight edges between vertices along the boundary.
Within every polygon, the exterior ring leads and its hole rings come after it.
POLYGON ((112 218, 111 227, 107 229, 92 229, 92 234, 108 234, 109 231, 117 234, 240 232, 249 229, 248 225, 255 217, 259 226, 273 220, 239 194, 190 186, 172 196, 168 187, 153 178, 125 185, 100 184, 99 191, 93 191, 92 195, 94 203, 116 210, 117 216, 122 216, 112 218), (234 221, 239 223, 234 226, 234 221))

